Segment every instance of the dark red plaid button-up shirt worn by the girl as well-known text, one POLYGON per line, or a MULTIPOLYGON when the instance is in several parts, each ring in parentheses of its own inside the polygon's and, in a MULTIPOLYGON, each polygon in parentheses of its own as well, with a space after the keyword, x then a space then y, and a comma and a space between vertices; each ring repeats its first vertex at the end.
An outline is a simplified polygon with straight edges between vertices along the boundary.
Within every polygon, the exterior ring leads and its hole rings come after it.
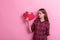
POLYGON ((31 26, 33 34, 33 40, 47 40, 49 34, 50 24, 48 21, 35 20, 31 26))

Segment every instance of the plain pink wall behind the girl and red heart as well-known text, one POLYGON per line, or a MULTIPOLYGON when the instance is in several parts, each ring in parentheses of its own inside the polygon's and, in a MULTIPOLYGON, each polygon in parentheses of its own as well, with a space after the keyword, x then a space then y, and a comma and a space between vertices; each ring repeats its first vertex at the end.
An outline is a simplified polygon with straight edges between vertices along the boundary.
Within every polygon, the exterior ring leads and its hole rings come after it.
POLYGON ((60 0, 0 0, 0 40, 31 40, 21 16, 25 11, 36 14, 39 8, 48 13, 49 40, 60 40, 60 0))

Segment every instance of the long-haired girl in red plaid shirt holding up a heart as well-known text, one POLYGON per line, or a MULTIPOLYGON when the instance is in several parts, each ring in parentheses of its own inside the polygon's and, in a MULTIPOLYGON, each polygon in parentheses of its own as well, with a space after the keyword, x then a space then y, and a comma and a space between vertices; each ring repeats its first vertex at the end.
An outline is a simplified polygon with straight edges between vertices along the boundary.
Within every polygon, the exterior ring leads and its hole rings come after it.
POLYGON ((34 20, 32 26, 29 27, 30 32, 34 32, 32 39, 48 40, 50 35, 49 28, 50 28, 50 24, 47 17, 47 12, 44 8, 41 8, 38 10, 37 18, 34 20))

